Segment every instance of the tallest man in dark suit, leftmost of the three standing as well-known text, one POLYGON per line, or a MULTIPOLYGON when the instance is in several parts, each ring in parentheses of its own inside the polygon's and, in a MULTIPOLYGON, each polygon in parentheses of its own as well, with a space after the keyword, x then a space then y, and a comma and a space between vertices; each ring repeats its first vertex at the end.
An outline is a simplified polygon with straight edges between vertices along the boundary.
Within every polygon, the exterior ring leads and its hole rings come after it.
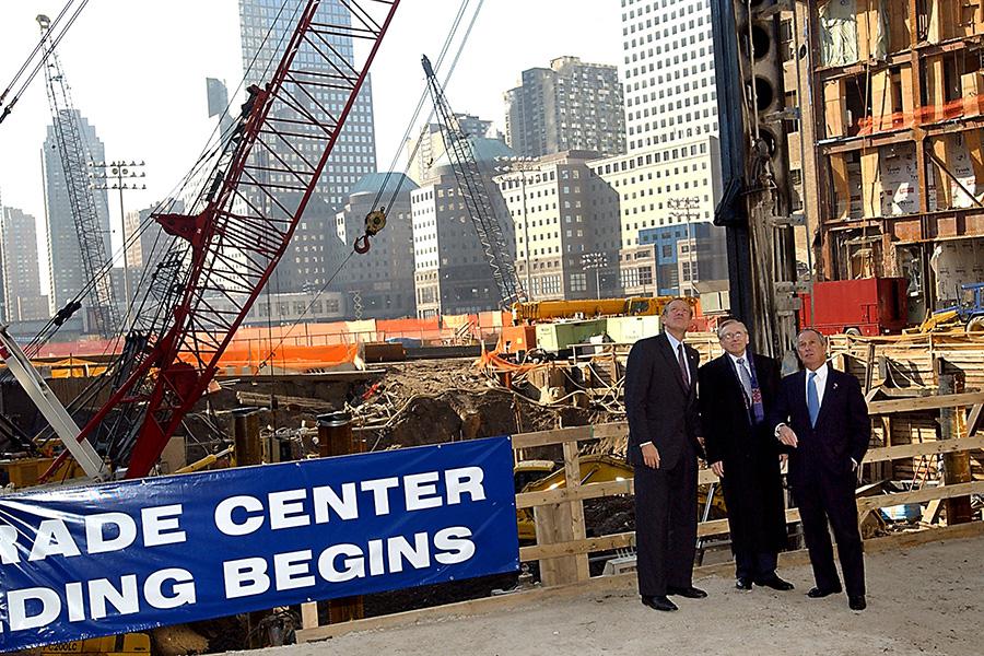
POLYGON ((692 318, 686 300, 668 303, 663 309, 665 332, 635 342, 625 371, 639 593, 643 604, 656 610, 677 610, 667 595, 707 596, 693 587, 696 459, 702 447, 696 399, 700 358, 683 344, 692 318))

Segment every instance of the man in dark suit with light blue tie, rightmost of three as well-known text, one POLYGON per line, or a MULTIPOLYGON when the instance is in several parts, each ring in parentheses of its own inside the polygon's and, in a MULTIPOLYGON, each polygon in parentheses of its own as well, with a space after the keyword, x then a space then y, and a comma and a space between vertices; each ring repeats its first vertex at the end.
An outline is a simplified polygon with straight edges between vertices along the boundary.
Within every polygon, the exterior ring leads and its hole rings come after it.
POLYGON ((770 425, 789 453, 789 482, 817 587, 813 599, 841 591, 827 524, 833 528, 852 610, 864 610, 865 562, 854 489, 871 422, 857 379, 827 363, 827 339, 812 328, 796 338, 806 367, 783 378, 770 425))

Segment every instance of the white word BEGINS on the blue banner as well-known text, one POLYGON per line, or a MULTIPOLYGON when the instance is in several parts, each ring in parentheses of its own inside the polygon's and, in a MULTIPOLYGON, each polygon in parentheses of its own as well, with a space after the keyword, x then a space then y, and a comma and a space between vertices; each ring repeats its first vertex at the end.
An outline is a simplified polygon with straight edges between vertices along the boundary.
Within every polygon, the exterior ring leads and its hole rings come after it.
MULTIPOLYGON (((431 536, 417 532, 411 540, 395 536, 385 540, 368 540, 366 548, 358 544, 332 544, 318 555, 318 575, 328 583, 343 583, 353 578, 396 574, 408 565, 413 570, 431 566, 431 558, 444 565, 464 563, 475 555, 471 530, 465 526, 450 526, 431 536), (366 558, 367 557, 367 558, 366 558), (366 572, 366 561, 368 571, 366 572)), ((273 581, 277 589, 296 589, 317 585, 311 575, 311 550, 278 553, 272 557, 273 581)), ((270 589, 270 565, 265 558, 243 558, 222 563, 227 599, 262 595, 270 589)))

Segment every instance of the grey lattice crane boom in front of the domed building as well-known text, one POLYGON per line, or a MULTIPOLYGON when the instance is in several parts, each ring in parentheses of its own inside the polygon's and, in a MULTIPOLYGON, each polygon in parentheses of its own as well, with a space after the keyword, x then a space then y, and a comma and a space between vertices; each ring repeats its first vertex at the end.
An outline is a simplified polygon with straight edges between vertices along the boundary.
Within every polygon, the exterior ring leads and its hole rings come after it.
POLYGON ((502 225, 492 208, 492 200, 489 190, 485 189, 468 134, 461 129, 457 115, 452 112, 444 90, 434 74, 431 60, 424 56, 421 63, 458 190, 465 198, 465 208, 475 225, 475 232, 478 233, 485 259, 489 260, 489 268, 492 270, 492 278, 499 289, 500 306, 509 309, 513 303, 526 301, 526 292, 516 274, 516 262, 513 261, 513 255, 503 237, 502 225))

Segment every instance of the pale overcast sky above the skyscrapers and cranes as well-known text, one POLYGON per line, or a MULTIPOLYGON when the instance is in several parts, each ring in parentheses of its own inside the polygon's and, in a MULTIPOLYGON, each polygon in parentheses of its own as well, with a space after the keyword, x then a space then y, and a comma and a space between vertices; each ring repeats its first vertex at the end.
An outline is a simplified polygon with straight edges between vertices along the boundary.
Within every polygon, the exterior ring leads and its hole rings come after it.
MULTIPOLYGON (((0 90, 38 39, 35 16, 54 17, 65 1, 0 0, 0 90)), ((399 153, 424 90, 420 56, 436 59, 460 2, 400 3, 372 69, 380 169, 399 153)), ((477 4, 472 0, 469 7, 477 4)), ((75 105, 95 126, 106 157, 147 162, 148 190, 127 192, 128 211, 160 200, 191 168, 214 127, 204 79, 223 79, 231 91, 237 86, 243 75, 237 12, 237 0, 90 0, 59 45, 75 105)), ((621 63, 620 16, 619 0, 487 0, 446 90, 453 108, 492 119, 504 130, 502 94, 523 70, 564 55, 621 63)), ((39 74, 0 124, 2 203, 33 214, 39 241, 40 149, 49 122, 39 74)), ((405 165, 400 157, 399 169, 405 165)), ((110 197, 109 206, 118 227, 118 197, 110 197)))

